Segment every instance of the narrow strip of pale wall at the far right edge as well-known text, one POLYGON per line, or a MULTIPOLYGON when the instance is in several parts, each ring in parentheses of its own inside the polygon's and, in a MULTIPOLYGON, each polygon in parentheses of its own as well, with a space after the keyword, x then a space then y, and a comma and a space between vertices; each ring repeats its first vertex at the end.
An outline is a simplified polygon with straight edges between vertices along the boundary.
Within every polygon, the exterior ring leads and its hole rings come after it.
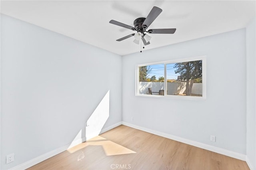
POLYGON ((256 22, 246 27, 246 154, 253 170, 256 170, 256 22))

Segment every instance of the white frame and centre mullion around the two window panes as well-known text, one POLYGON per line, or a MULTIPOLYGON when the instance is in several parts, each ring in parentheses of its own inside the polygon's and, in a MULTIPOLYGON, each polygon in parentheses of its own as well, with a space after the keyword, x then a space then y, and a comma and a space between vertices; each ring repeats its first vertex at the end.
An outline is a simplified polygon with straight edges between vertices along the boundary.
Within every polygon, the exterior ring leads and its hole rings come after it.
POLYGON ((136 96, 143 97, 160 97, 160 98, 170 98, 170 99, 190 99, 190 100, 205 100, 206 99, 206 55, 198 56, 198 57, 190 57, 183 59, 175 59, 169 61, 160 61, 154 63, 146 63, 146 64, 138 64, 136 65, 136 96), (166 79, 166 64, 170 63, 182 63, 186 61, 198 61, 202 60, 202 97, 200 96, 180 96, 180 95, 167 95, 167 79, 166 79), (148 95, 148 94, 139 94, 139 67, 147 66, 147 65, 156 65, 156 64, 164 64, 164 95, 148 95))

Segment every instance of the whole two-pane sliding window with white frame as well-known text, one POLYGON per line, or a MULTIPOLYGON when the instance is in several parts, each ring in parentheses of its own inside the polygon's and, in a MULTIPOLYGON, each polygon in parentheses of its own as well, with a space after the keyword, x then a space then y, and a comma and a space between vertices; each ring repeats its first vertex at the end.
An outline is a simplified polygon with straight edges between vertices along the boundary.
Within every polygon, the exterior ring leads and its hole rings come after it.
POLYGON ((136 95, 206 98, 206 56, 136 65, 136 95))

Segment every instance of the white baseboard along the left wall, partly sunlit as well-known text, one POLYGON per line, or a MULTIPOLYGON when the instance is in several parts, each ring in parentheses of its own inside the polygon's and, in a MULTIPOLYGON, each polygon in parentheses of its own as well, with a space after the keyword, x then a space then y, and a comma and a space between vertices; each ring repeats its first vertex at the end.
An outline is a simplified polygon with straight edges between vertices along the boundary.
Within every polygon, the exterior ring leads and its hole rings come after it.
MULTIPOLYGON (((104 132, 106 132, 106 131, 108 131, 108 130, 110 130, 110 129, 112 129, 112 128, 118 127, 119 125, 122 125, 122 122, 118 122, 118 123, 116 123, 116 124, 114 124, 114 125, 112 125, 112 126, 110 126, 110 127, 106 127, 106 128, 104 128, 104 129, 102 129, 102 130, 100 131, 100 134, 102 134, 102 133, 104 133, 104 132)), ((98 134, 97 134, 97 135, 98 135, 98 134)), ((97 136, 97 135, 96 135, 96 136, 97 136)), ((95 136, 94 136, 94 137, 95 137, 95 136)), ((36 164, 38 164, 38 163, 40 163, 40 162, 42 162, 42 161, 44 161, 44 160, 46 160, 46 159, 52 157, 52 156, 55 156, 56 154, 59 154, 59 153, 61 153, 61 152, 64 152, 64 151, 67 150, 68 148, 71 148, 71 146, 74 147, 74 146, 76 146, 76 145, 78 145, 78 144, 80 144, 80 143, 82 143, 82 142, 84 142, 84 141, 86 141, 86 140, 88 140, 88 138, 87 138, 87 139, 86 139, 85 137, 84 137, 84 138, 79 138, 79 139, 73 141, 72 144, 70 143, 70 144, 67 144, 67 145, 65 145, 65 146, 62 146, 62 147, 60 147, 60 148, 57 148, 57 149, 55 149, 55 150, 52 150, 52 151, 50 151, 50 152, 47 152, 47 153, 45 153, 45 154, 42 154, 41 156, 38 156, 38 157, 36 157, 36 158, 34 158, 34 159, 32 159, 32 160, 29 160, 29 161, 27 161, 27 162, 24 162, 23 164, 20 164, 20 165, 18 165, 18 166, 15 166, 15 167, 13 167, 13 168, 10 168, 10 170, 25 170, 25 169, 27 169, 27 168, 30 168, 31 166, 34 166, 34 165, 36 165, 36 164)))

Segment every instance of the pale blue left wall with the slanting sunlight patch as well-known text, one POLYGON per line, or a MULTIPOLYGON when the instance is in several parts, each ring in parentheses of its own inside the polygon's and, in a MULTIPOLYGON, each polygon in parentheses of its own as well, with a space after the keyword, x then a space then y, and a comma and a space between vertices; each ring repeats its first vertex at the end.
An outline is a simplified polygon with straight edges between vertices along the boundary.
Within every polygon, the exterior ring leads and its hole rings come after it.
POLYGON ((120 55, 5 15, 1 49, 0 169, 84 137, 102 101, 107 108, 109 101, 103 128, 122 121, 120 55), (15 161, 6 164, 11 153, 15 161))

